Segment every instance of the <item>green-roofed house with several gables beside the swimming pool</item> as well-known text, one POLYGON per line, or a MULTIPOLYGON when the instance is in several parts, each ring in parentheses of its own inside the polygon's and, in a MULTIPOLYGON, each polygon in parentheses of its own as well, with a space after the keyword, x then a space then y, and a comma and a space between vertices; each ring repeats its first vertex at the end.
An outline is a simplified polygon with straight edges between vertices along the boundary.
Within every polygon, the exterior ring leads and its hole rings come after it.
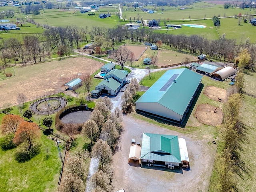
POLYGON ((126 84, 127 76, 128 72, 126 70, 111 70, 104 76, 104 80, 95 87, 95 90, 109 95, 116 95, 126 84))

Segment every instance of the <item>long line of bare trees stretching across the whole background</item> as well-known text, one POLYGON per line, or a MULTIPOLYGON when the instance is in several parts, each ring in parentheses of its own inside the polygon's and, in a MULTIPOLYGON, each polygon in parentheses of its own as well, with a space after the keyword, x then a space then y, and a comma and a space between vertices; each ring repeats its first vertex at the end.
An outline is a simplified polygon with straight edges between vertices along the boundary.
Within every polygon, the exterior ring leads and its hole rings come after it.
MULTIPOLYGON (((34 22, 31 20, 30 22, 34 22)), ((34 23, 36 24, 36 23, 34 23)), ((226 34, 218 40, 208 40, 204 36, 184 34, 159 34, 153 30, 129 30, 124 26, 116 26, 115 28, 105 28, 92 26, 88 28, 80 28, 77 26, 66 27, 50 27, 44 25, 47 30, 42 35, 24 36, 23 43, 20 39, 10 38, 0 41, 0 58, 3 60, 3 66, 10 64, 10 60, 20 58, 22 63, 26 64, 27 60, 34 62, 44 61, 45 57, 50 55, 52 50, 58 49, 60 56, 73 53, 74 48, 79 49, 81 41, 88 42, 88 38, 94 42, 96 52, 100 55, 102 50, 114 48, 121 44, 124 40, 131 42, 161 42, 161 45, 177 50, 179 52, 187 52, 193 55, 206 54, 208 59, 224 60, 224 62, 234 62, 234 58, 242 49, 247 49, 251 55, 248 67, 254 67, 256 59, 256 44, 250 42, 250 38, 241 39, 237 42, 235 39, 226 38, 226 34)))

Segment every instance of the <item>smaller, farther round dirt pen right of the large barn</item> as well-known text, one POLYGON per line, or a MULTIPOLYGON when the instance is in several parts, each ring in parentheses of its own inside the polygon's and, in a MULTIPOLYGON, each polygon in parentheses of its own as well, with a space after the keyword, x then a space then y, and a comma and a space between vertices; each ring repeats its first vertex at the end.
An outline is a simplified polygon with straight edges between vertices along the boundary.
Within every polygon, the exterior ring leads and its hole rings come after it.
POLYGON ((225 102, 227 91, 222 88, 207 86, 204 90, 204 94, 211 100, 225 102))

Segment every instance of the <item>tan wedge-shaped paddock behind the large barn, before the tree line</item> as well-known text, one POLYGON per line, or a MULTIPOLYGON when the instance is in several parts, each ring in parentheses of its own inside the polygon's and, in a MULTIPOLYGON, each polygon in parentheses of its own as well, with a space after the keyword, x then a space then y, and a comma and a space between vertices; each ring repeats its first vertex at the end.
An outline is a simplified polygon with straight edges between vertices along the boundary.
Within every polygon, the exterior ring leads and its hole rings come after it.
POLYGON ((176 51, 170 51, 170 50, 160 50, 157 54, 157 66, 166 66, 170 64, 176 64, 180 62, 184 62, 184 58, 190 58, 190 61, 198 60, 197 57, 179 53, 176 51))

